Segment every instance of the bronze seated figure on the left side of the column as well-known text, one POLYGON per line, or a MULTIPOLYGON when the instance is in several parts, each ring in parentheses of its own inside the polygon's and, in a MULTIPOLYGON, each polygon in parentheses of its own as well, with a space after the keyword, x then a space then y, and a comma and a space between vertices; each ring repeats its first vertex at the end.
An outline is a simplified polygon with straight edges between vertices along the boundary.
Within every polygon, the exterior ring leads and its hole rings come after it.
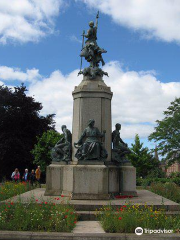
POLYGON ((56 143, 55 147, 51 151, 51 158, 53 162, 71 161, 72 155, 72 134, 67 129, 66 125, 61 127, 63 137, 56 143))

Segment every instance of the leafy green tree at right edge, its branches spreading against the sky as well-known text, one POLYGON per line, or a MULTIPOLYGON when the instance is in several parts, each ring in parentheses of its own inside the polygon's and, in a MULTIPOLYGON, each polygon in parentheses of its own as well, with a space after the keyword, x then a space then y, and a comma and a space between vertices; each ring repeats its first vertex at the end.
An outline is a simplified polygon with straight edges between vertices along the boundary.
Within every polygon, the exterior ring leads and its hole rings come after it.
POLYGON ((149 140, 154 140, 159 153, 170 159, 174 152, 180 150, 180 98, 171 102, 164 111, 164 118, 156 122, 157 126, 155 131, 150 134, 149 140))

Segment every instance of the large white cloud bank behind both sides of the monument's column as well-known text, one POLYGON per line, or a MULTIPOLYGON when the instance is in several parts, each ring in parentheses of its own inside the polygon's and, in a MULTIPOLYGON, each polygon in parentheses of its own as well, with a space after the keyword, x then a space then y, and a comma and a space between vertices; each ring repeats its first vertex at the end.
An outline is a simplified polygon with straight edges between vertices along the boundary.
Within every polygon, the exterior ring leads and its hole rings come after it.
MULTIPOLYGON (((104 80, 113 91, 113 128, 115 123, 121 123, 123 138, 134 138, 136 133, 141 138, 147 137, 153 131, 155 121, 163 117, 163 111, 170 102, 180 97, 180 83, 163 83, 156 78, 154 71, 124 71, 118 62, 108 63, 104 70, 110 76, 104 77, 104 80)), ((27 72, 24 74, 27 75, 27 72)), ((72 91, 82 80, 82 76, 77 77, 77 74, 78 70, 69 75, 54 71, 49 77, 41 76, 41 80, 31 81, 29 85, 29 94, 43 104, 41 113, 56 114, 59 131, 62 124, 70 129, 72 126, 72 91)), ((17 79, 16 72, 14 76, 17 79)), ((22 77, 19 80, 22 81, 22 77)))

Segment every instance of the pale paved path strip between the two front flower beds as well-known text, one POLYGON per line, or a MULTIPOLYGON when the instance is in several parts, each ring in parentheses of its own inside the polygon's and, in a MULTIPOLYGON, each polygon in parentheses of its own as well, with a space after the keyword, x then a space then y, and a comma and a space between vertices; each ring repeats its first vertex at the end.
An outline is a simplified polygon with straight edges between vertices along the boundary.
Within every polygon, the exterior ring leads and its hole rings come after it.
POLYGON ((73 233, 105 233, 98 221, 80 221, 77 222, 73 233))

